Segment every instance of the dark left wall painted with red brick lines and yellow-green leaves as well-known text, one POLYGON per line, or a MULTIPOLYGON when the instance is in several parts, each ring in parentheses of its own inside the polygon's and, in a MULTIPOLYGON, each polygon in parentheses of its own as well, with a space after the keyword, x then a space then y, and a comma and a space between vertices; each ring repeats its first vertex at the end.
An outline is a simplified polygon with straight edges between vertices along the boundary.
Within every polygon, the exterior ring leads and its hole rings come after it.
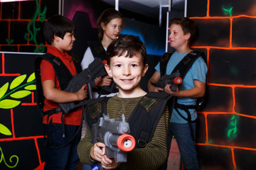
POLYGON ((37 54, 15 52, 45 52, 43 23, 49 16, 58 14, 58 1, 1 2, 0 7, 0 169, 40 170, 44 166, 46 147, 36 91, 30 90, 31 94, 21 98, 11 96, 25 91, 23 84, 29 83, 37 54), (26 79, 11 89, 11 83, 23 75, 26 79), (6 85, 8 88, 4 91, 6 85), (3 105, 7 100, 20 103, 13 107, 3 105))

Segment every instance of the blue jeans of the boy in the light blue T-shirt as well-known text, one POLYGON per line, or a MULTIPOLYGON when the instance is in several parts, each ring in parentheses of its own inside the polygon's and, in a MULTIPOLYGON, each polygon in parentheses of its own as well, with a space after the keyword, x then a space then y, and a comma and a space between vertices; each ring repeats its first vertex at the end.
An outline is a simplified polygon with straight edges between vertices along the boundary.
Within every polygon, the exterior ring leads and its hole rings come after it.
MULTIPOLYGON (((192 123, 192 126, 194 138, 196 138, 196 123, 192 123)), ((198 170, 199 164, 197 159, 196 145, 195 141, 192 140, 191 130, 188 123, 170 123, 167 141, 167 159, 166 162, 164 162, 164 164, 161 166, 161 169, 165 170, 167 168, 167 161, 173 135, 178 144, 184 169, 198 170)))

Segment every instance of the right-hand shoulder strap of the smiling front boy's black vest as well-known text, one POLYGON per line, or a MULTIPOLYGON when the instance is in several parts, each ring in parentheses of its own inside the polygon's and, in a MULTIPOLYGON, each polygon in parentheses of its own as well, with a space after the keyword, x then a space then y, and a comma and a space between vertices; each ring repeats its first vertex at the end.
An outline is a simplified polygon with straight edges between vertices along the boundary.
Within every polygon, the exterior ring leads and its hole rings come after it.
POLYGON ((136 140, 136 148, 145 147, 154 136, 166 102, 171 95, 159 92, 150 92, 142 97, 128 119, 130 135, 136 140))

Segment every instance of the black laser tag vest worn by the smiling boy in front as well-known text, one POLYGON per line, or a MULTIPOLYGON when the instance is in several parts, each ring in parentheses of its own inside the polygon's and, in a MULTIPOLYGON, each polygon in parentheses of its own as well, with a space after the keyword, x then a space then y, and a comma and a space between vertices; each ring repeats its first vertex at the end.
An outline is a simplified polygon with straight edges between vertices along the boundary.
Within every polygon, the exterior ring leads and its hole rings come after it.
MULTIPOLYGON (((135 138, 135 148, 145 147, 151 141, 156 125, 159 123, 166 103, 173 103, 173 96, 166 93, 150 92, 143 96, 137 106, 135 106, 127 122, 130 133, 135 138)), ((92 125, 107 113, 107 100, 109 97, 92 100, 83 109, 83 115, 88 130, 92 132, 92 125)), ((171 115, 171 113, 169 113, 171 115)))

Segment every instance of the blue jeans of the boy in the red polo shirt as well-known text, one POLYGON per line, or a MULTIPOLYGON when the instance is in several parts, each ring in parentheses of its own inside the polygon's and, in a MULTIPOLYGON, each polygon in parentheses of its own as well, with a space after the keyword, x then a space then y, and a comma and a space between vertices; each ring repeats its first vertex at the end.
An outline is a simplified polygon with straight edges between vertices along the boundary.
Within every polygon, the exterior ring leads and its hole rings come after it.
POLYGON ((77 147, 81 139, 81 130, 82 128, 76 125, 65 125, 65 137, 63 137, 63 126, 58 123, 49 123, 45 169, 77 169, 76 166, 80 162, 77 147), (78 132, 77 135, 75 135, 76 132, 78 132), (73 137, 74 139, 65 145, 73 137), (60 145, 65 146, 58 147, 60 145))

